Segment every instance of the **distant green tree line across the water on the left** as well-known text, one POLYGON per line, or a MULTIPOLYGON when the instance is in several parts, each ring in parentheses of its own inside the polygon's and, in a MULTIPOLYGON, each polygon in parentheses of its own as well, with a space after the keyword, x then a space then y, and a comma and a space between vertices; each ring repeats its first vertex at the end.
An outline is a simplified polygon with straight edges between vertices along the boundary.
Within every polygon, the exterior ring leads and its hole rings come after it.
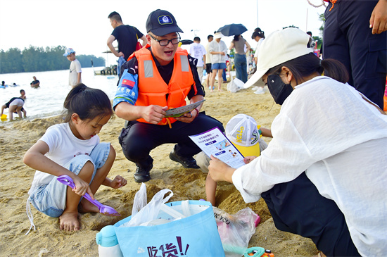
MULTIPOLYGON (((63 53, 65 46, 37 47, 29 46, 21 51, 11 48, 8 51, 0 50, 0 74, 2 73, 30 73, 48 70, 66 70, 70 67, 63 53)), ((105 66, 105 59, 94 55, 77 55, 82 68, 105 66)))

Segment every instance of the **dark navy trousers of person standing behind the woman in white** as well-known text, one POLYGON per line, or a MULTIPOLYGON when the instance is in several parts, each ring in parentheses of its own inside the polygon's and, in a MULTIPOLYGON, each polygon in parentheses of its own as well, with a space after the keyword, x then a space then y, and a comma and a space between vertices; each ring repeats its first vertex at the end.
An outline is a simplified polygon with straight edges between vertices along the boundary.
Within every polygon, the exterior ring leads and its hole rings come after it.
POLYGON ((383 110, 387 73, 387 31, 372 35, 369 18, 377 0, 338 0, 325 11, 324 59, 341 61, 348 84, 383 110), (331 9, 331 11, 329 11, 331 9))

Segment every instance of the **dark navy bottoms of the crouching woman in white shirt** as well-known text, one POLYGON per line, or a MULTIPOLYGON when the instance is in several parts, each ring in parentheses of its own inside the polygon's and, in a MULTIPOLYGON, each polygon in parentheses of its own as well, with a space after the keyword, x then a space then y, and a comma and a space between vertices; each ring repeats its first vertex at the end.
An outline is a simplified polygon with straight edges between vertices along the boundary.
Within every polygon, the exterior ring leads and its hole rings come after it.
POLYGON ((261 194, 277 229, 308 237, 326 256, 360 256, 344 215, 302 173, 261 194))

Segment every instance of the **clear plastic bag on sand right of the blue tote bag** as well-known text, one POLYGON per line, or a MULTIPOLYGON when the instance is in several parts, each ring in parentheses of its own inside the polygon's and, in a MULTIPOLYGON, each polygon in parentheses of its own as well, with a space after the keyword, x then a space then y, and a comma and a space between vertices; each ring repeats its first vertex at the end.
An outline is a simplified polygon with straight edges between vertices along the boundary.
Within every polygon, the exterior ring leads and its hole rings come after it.
POLYGON ((241 256, 240 249, 248 248, 248 242, 255 233, 255 227, 258 225, 260 217, 250 208, 244 208, 234 215, 230 215, 220 208, 212 208, 226 256, 241 256))

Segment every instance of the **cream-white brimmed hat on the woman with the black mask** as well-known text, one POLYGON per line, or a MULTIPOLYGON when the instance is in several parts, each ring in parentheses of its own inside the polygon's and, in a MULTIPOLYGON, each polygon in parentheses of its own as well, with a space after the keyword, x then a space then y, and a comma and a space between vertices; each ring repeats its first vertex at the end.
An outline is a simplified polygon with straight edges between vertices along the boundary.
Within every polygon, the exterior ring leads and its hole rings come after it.
POLYGON ((257 71, 243 87, 248 88, 255 84, 267 73, 267 70, 286 61, 311 53, 313 50, 307 47, 309 39, 309 35, 295 27, 272 32, 260 44, 257 71))

